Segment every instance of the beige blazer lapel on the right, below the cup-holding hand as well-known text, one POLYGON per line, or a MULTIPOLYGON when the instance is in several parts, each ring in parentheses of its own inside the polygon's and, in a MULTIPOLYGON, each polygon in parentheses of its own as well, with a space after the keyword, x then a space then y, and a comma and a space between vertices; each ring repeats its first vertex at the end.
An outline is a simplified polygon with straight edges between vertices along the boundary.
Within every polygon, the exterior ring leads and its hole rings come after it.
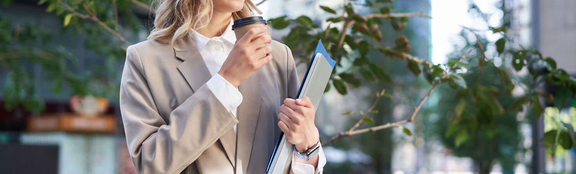
POLYGON ((242 93, 244 101, 238 106, 238 121, 240 123, 238 123, 238 149, 236 152, 238 159, 241 160, 242 173, 246 173, 260 113, 260 101, 262 101, 262 73, 260 70, 257 70, 248 80, 238 86, 238 90, 242 93))

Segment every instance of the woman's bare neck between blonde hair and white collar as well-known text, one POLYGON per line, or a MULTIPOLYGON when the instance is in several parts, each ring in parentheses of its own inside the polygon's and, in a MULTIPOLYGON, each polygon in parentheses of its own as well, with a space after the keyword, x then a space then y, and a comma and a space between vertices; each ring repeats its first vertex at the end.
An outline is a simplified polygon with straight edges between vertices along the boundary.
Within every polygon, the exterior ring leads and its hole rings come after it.
POLYGON ((232 13, 214 12, 208 25, 196 31, 200 33, 200 35, 206 36, 208 38, 222 36, 222 33, 224 33, 230 24, 230 17, 232 17, 232 13))

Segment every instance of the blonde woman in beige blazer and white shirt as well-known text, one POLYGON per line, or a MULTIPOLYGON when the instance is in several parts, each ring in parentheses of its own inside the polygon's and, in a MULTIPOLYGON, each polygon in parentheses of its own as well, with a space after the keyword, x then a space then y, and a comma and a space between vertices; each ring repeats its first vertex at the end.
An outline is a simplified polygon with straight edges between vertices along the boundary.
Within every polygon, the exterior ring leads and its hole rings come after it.
MULTIPOLYGON (((288 47, 231 22, 262 14, 250 0, 161 0, 148 40, 128 47, 120 109, 138 173, 264 173, 282 130, 299 152, 319 145, 314 108, 293 100, 288 47), (266 47, 258 48, 267 43, 266 47), (264 57, 264 58, 261 58, 264 57)), ((291 172, 319 173, 324 153, 291 172)))

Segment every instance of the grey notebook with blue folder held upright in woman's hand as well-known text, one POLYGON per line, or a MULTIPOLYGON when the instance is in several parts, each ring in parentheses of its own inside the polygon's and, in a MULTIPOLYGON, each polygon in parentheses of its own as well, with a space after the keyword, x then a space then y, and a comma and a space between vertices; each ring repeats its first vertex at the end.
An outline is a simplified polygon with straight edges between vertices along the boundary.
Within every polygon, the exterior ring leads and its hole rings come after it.
MULTIPOLYGON (((300 89, 298 89, 297 99, 307 96, 312 101, 314 109, 317 109, 335 65, 336 61, 328 56, 322 41, 319 40, 300 89)), ((266 173, 289 173, 294 153, 293 146, 292 143, 286 141, 286 135, 281 133, 268 162, 266 173)))

